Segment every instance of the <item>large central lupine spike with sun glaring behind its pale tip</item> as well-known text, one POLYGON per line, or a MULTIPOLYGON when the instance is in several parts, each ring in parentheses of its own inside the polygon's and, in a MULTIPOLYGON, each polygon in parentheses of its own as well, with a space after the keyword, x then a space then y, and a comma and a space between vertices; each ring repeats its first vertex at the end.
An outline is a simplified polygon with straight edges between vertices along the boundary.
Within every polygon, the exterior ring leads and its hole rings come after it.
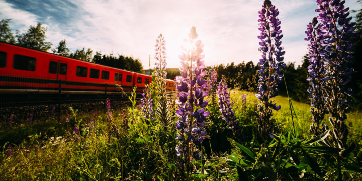
MULTIPOLYGON (((204 101, 204 97, 208 92, 204 91, 206 81, 203 77, 206 71, 203 53, 204 45, 200 40, 196 40, 198 34, 196 28, 192 27, 189 33, 189 38, 185 39, 185 43, 191 47, 188 49, 183 47, 184 52, 179 55, 181 61, 180 74, 177 77, 179 83, 176 88, 178 90, 179 99, 176 101, 178 109, 176 114, 179 120, 176 122, 178 135, 176 139, 179 141, 176 147, 177 156, 183 158, 182 163, 186 164, 186 170, 192 171, 191 159, 201 158, 201 153, 197 151, 195 146, 203 141, 206 131, 203 131, 205 118, 210 115, 209 111, 205 112, 205 107, 208 105, 204 101), (194 71, 194 73, 193 73, 194 71), (195 120, 194 120, 195 118, 195 120), (188 139, 185 139, 187 136, 188 139)), ((184 164, 182 164, 184 165, 184 164)), ((183 168, 183 167, 182 167, 183 168)))

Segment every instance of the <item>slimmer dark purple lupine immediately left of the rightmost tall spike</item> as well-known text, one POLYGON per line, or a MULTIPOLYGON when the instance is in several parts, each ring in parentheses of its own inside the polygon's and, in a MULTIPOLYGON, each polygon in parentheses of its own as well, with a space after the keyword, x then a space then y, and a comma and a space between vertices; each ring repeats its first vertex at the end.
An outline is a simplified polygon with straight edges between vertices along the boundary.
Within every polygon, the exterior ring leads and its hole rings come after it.
MULTIPOLYGON (((310 126, 310 132, 313 136, 318 136, 323 133, 322 128, 320 127, 320 122, 324 118, 326 113, 325 109, 325 76, 324 76, 324 62, 321 56, 322 51, 322 36, 321 36, 321 24, 317 24, 318 20, 316 17, 313 18, 313 21, 307 25, 307 38, 306 41, 310 41, 308 44, 308 54, 309 58, 309 85, 308 93, 311 94, 310 103, 311 103, 311 113, 312 113, 312 125, 310 126)), ((322 127, 324 126, 324 123, 322 127)))

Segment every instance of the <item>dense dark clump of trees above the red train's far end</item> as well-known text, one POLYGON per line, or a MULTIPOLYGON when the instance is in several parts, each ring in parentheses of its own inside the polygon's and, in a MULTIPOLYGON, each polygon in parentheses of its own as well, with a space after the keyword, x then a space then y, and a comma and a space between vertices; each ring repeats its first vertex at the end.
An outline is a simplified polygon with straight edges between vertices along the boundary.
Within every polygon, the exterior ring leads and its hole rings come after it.
POLYGON ((93 57, 93 62, 114 68, 144 73, 142 63, 139 59, 134 59, 133 57, 124 55, 119 55, 117 58, 112 53, 110 55, 102 55, 101 52, 96 52, 93 57))

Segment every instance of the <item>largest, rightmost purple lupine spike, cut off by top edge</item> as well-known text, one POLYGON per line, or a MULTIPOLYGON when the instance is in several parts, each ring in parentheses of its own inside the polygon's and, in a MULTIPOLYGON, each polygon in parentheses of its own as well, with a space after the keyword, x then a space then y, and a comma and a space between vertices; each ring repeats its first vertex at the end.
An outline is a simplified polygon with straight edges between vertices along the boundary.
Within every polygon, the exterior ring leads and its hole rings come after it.
POLYGON ((350 111, 348 103, 351 89, 345 85, 351 80, 353 70, 348 68, 354 51, 353 37, 355 36, 355 23, 350 23, 349 8, 344 7, 345 1, 340 0, 317 0, 319 13, 317 20, 321 22, 320 31, 322 36, 325 66, 325 90, 326 108, 329 112, 329 121, 333 128, 330 139, 333 147, 348 148, 340 153, 341 156, 348 155, 355 147, 353 143, 347 146, 348 128, 345 125, 346 113, 350 111))

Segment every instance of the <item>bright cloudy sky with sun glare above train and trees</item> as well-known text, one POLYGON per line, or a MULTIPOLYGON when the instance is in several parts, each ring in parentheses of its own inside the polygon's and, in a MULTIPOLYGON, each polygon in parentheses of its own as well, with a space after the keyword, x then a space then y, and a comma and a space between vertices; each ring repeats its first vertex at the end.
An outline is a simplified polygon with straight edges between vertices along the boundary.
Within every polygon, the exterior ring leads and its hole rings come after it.
MULTIPOLYGON (((195 26, 204 44, 205 64, 214 66, 260 59, 258 11, 262 0, 0 0, 0 19, 23 33, 41 22, 54 48, 65 39, 71 51, 91 48, 102 54, 137 58, 144 69, 154 65, 154 45, 165 38, 167 68, 178 68, 180 46, 195 26)), ((302 63, 307 24, 317 16, 315 0, 272 0, 279 9, 285 62, 302 63)), ((359 10, 356 0, 345 7, 359 10)), ((354 15, 354 14, 352 14, 354 15)))

